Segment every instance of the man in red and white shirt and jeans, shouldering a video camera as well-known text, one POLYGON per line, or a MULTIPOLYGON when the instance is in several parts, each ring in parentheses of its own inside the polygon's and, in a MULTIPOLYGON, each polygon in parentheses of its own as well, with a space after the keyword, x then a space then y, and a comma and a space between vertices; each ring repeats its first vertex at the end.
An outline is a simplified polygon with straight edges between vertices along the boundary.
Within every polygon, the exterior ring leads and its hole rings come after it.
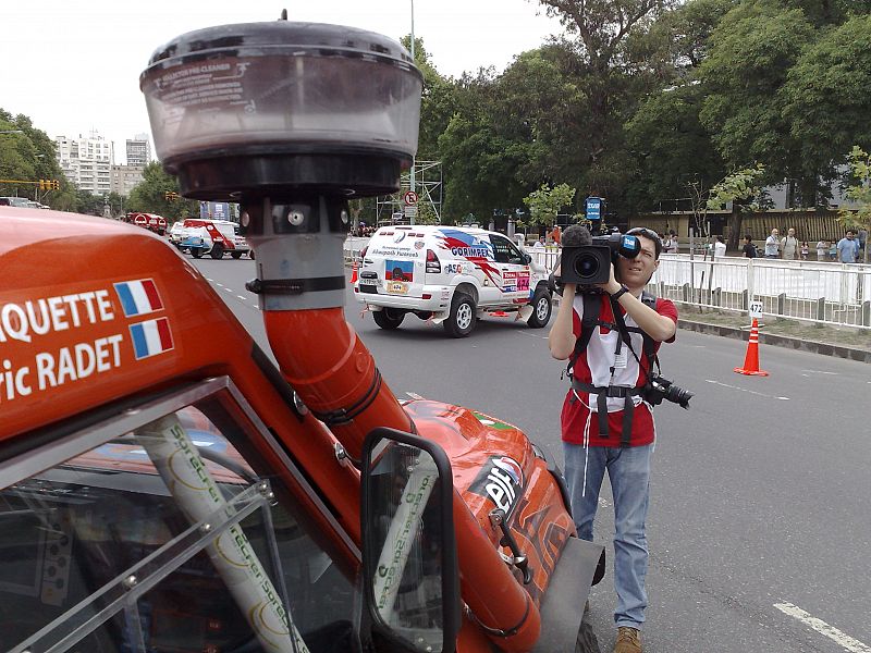
MULTIPOLYGON (((643 297, 647 301, 642 300, 642 291, 659 267, 662 242, 648 229, 633 229, 628 234, 638 236, 641 251, 634 259, 618 256, 611 266, 609 281, 598 284, 601 294, 594 297, 600 304, 600 313, 587 346, 575 352, 581 335, 584 295, 590 293, 578 294, 575 284, 565 284, 560 311, 549 335, 554 358, 575 359, 569 364, 573 382, 563 404, 561 421, 565 476, 578 537, 592 540, 605 470, 611 480, 615 519, 614 589, 617 593, 614 653, 641 653, 639 630, 647 607, 648 564, 645 519, 655 430, 650 405, 642 399, 640 391, 648 382, 659 345, 674 341, 677 329, 674 304, 647 296, 643 297), (618 308, 618 317, 612 310, 614 307, 618 308), (606 416, 600 414, 603 408, 606 416)), ((564 247, 567 247, 568 235, 563 234, 564 247)), ((587 305, 591 301, 588 299, 587 305)))

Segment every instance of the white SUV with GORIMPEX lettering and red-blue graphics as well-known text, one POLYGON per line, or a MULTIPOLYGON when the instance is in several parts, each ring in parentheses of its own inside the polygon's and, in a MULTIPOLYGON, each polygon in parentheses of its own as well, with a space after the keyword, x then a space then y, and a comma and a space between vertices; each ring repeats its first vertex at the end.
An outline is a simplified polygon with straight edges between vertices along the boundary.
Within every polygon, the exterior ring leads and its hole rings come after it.
POLYGON ((502 234, 456 226, 382 226, 363 250, 354 296, 381 329, 408 312, 464 337, 489 311, 533 329, 551 317, 548 271, 502 234))

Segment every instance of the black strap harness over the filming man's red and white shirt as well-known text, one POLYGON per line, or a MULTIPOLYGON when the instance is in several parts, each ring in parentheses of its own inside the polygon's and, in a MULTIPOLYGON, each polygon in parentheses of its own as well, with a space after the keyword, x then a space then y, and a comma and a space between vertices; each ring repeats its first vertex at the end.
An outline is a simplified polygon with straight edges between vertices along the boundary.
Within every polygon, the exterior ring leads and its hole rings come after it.
MULTIPOLYGON (((616 356, 619 356, 623 350, 623 345, 625 344, 628 347, 629 352, 631 352, 635 360, 638 362, 639 370, 642 370, 643 367, 641 366, 641 360, 638 358, 638 355, 635 353, 631 344, 630 333, 640 333, 641 337, 643 338, 643 355, 647 357, 648 360, 648 369, 645 372, 647 374, 648 380, 650 380, 651 372, 653 370, 653 366, 655 365, 659 368, 659 359, 657 358, 657 345, 652 337, 650 337, 647 333, 645 333, 639 326, 626 326, 626 321, 623 319, 623 313, 621 311, 619 305, 613 299, 610 298, 611 301, 611 312, 614 316, 614 322, 606 322, 601 319, 602 312, 602 300, 601 295, 593 294, 593 293, 585 293, 582 295, 584 299, 584 317, 580 321, 580 336, 575 342, 575 350, 572 353, 572 356, 568 359, 568 366, 566 367, 566 372, 568 373, 568 378, 572 380, 572 389, 577 392, 587 392, 590 395, 598 395, 597 397, 597 406, 596 411, 599 419, 599 434, 602 438, 608 438, 609 435, 609 426, 608 426, 608 398, 609 397, 623 397, 624 398, 624 409, 623 409, 623 430, 621 434, 621 446, 626 447, 629 446, 629 441, 631 438, 631 430, 633 430, 633 416, 635 415, 635 402, 633 397, 639 396, 643 394, 643 386, 641 387, 625 387, 622 385, 606 385, 606 386, 597 386, 591 383, 584 383, 578 381, 574 377, 574 368, 575 364, 577 362, 578 358, 580 357, 581 353, 587 348, 587 345, 590 343, 590 338, 592 337, 592 332, 599 326, 605 326, 612 331, 616 331, 619 333, 619 337, 617 338, 617 346, 614 350, 616 356)), ((657 308, 657 297, 647 291, 641 293, 641 301, 649 306, 650 308, 657 308)), ((614 380, 614 372, 616 369, 616 364, 611 366, 611 381, 614 380)), ((575 394, 575 398, 580 401, 575 394)), ((585 483, 586 485, 586 483, 585 483)))

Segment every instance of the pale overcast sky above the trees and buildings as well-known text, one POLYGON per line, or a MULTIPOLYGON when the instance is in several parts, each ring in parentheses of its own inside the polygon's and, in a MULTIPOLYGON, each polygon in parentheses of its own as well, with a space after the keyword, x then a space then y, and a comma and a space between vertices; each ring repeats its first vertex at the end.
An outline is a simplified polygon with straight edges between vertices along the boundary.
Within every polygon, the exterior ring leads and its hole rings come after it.
MULTIPOLYGON (((139 74, 162 44, 193 29, 290 20, 333 23, 398 39, 414 30, 443 75, 504 70, 562 33, 535 0, 3 0, 0 108, 30 116, 52 138, 114 141, 149 133, 139 74)), ((152 148, 154 156, 154 148, 152 148)))

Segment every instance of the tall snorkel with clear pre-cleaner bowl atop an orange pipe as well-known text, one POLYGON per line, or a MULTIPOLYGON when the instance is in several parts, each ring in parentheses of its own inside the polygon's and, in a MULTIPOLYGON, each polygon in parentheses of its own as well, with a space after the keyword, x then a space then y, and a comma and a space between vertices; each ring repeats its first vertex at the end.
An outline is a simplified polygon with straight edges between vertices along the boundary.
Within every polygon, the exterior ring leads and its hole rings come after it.
MULTIPOLYGON (((422 76, 402 46, 334 25, 249 23, 183 35, 140 78, 157 153, 181 192, 241 204, 279 367, 353 458, 376 427, 415 431, 344 319, 349 198, 398 190, 417 150, 422 76)), ((456 492, 464 601, 506 651, 538 608, 456 492)))

